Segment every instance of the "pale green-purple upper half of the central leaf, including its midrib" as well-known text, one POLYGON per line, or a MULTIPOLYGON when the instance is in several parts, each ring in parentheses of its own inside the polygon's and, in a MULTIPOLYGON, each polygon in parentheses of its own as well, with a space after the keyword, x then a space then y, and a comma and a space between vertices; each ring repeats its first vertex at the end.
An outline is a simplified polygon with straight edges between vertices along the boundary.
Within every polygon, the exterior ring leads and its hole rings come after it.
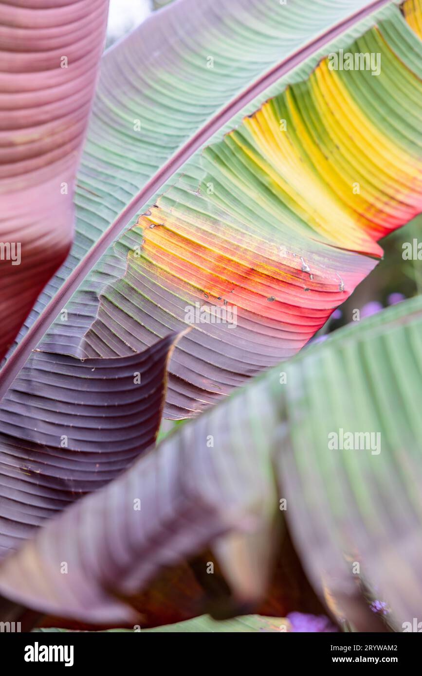
MULTIPOLYGON (((72 254, 22 329, 20 347, 0 377, 1 393, 56 317, 43 349, 83 353, 99 296, 124 276, 126 254, 139 245, 139 237, 136 243, 129 235, 114 248, 109 245, 141 208, 156 201, 158 190, 174 185, 182 173, 197 188, 204 176, 205 143, 219 141, 268 97, 307 77, 329 51, 350 45, 383 18, 384 37, 406 66, 421 72, 419 41, 394 3, 321 2, 314 10, 302 26, 304 0, 289 6, 274 6, 272 0, 236 0, 229 6, 207 1, 200 9, 193 0, 183 0, 149 17, 104 55, 78 179, 72 254), (183 36, 188 29, 194 43, 164 38, 178 32, 183 36), (60 311, 78 287, 64 326, 60 311)), ((149 326, 147 331, 150 344, 158 338, 157 329, 149 326)), ((218 387, 204 398, 214 400, 218 387)))

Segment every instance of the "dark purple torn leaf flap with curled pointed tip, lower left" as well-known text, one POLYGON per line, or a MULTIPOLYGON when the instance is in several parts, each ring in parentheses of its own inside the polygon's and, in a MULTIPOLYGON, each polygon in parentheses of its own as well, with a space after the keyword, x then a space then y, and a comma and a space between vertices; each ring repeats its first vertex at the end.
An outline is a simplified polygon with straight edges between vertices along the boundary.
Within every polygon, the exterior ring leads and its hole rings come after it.
POLYGON ((173 343, 116 359, 34 352, 0 412, 0 559, 154 443, 173 343))

